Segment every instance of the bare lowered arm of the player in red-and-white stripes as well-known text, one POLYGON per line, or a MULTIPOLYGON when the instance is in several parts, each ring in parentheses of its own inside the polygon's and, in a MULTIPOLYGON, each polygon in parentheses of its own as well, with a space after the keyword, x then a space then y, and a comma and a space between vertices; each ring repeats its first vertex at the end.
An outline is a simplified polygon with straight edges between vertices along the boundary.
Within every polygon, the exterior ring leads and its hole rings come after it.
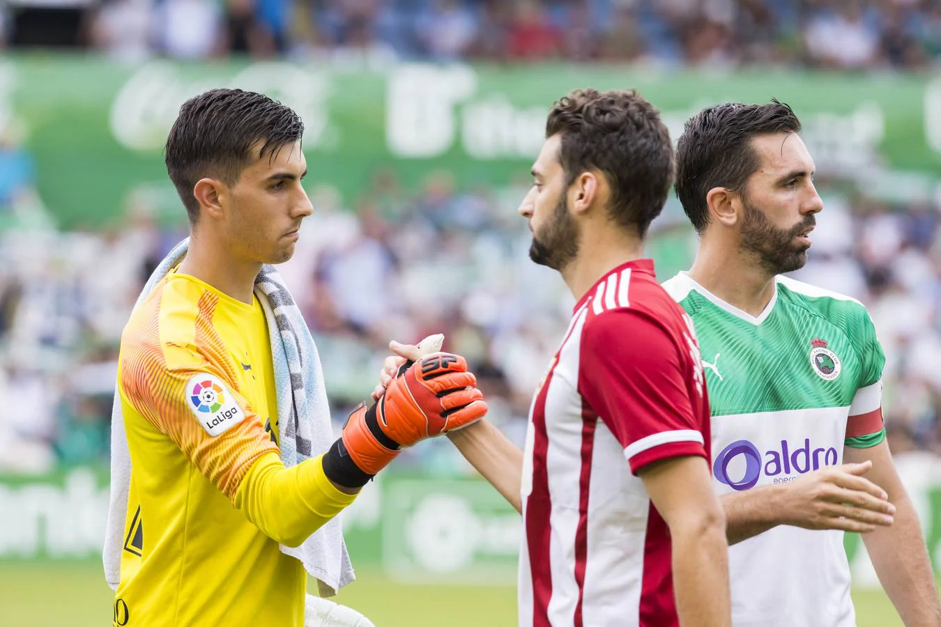
POLYGON ((709 464, 701 457, 670 458, 645 466, 640 478, 670 527, 679 623, 731 625, 726 520, 712 493, 709 464))

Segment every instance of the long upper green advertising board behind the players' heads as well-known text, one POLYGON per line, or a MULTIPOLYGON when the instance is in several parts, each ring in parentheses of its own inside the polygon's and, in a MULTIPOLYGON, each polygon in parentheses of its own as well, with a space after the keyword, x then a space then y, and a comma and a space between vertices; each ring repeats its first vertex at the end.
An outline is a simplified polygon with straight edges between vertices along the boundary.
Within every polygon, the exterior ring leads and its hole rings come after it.
POLYGON ((263 91, 293 106, 307 127, 311 187, 334 185, 347 203, 379 169, 409 189, 441 169, 462 186, 528 180, 551 102, 583 86, 637 87, 661 108, 674 137, 710 103, 776 97, 804 122, 821 173, 871 177, 889 167, 933 180, 941 171, 941 79, 898 73, 128 65, 85 55, 12 55, 0 60, 0 129, 22 137, 40 196, 62 227, 101 226, 120 215, 132 190, 178 206, 163 167, 167 130, 185 99, 216 86, 263 91))

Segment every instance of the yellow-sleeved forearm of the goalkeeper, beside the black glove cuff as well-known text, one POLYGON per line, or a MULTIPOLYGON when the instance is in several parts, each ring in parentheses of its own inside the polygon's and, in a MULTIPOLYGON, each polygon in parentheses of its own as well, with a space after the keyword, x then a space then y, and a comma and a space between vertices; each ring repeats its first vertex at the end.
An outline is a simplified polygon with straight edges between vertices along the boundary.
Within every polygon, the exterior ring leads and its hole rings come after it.
POLYGON ((234 504, 266 536, 297 546, 355 498, 330 483, 321 458, 285 468, 277 454, 269 453, 252 464, 234 504))

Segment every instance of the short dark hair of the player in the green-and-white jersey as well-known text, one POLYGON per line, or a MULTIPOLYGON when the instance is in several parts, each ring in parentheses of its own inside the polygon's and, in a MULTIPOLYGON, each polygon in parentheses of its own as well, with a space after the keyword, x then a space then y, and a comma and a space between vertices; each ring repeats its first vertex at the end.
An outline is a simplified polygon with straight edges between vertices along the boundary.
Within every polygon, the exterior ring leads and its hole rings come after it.
POLYGON ((677 144, 677 197, 697 232, 709 225, 706 195, 713 187, 744 192, 758 170, 752 137, 800 133, 801 120, 784 102, 726 102, 706 107, 686 121, 677 144))

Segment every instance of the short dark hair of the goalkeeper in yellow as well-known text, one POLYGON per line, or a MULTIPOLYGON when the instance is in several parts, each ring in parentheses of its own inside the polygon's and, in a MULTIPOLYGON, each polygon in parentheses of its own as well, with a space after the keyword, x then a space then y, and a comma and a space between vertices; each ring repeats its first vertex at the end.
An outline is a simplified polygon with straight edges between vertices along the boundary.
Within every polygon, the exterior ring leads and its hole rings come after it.
POLYGON ((298 141, 303 133, 304 122, 290 107, 253 91, 210 89, 183 102, 167 136, 165 159, 190 224, 199 216, 193 196, 199 179, 217 177, 234 185, 254 161, 252 147, 257 142, 264 142, 261 158, 298 141))

